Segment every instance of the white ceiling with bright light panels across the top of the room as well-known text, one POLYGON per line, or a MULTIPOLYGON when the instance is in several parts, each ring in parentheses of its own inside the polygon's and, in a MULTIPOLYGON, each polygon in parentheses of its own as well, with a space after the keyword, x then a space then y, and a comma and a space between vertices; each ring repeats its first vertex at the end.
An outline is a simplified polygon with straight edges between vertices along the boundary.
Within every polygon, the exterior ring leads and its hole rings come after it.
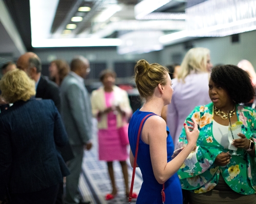
MULTIPOLYGON (((117 46, 121 54, 142 53, 198 37, 255 30, 256 0, 30 0, 30 15, 33 47, 117 46), (71 6, 62 8, 61 22, 51 33, 63 2, 71 6), (91 11, 78 12, 83 4, 91 4, 91 11), (113 6, 119 11, 96 20, 113 6), (77 29, 69 30, 70 34, 63 34, 73 16, 83 16, 83 20, 75 22, 77 29), (151 46, 146 47, 148 44, 151 46)), ((0 0, 0 57, 17 58, 26 52, 23 41, 0 0)))

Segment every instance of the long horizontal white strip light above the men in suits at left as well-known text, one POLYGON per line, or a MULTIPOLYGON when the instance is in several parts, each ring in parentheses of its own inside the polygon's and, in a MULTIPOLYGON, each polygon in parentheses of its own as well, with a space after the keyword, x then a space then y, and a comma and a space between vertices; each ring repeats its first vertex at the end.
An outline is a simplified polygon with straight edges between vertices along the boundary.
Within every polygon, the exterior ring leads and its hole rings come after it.
POLYGON ((32 40, 33 47, 90 47, 90 46, 119 46, 117 38, 59 38, 32 40))

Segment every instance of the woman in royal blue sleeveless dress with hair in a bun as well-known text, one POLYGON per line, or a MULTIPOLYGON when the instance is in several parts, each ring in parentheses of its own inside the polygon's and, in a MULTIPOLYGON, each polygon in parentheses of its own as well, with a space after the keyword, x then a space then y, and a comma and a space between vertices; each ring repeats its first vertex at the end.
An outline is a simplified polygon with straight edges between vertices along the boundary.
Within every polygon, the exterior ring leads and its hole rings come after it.
POLYGON ((141 170, 143 183, 137 203, 162 203, 164 184, 165 204, 181 204, 181 185, 176 172, 196 145, 199 135, 197 123, 188 122, 191 126, 184 123, 188 144, 174 152, 169 129, 160 117, 162 108, 170 103, 174 91, 167 68, 140 60, 135 65, 135 82, 145 103, 133 114, 129 125, 132 166, 140 123, 146 115, 154 114, 144 120, 139 140, 137 167, 141 170))

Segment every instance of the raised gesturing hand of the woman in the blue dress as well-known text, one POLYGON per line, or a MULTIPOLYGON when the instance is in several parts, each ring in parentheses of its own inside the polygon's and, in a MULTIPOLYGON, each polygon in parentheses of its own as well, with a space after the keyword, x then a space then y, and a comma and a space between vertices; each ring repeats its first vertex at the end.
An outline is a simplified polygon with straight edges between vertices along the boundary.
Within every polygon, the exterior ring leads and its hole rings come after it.
POLYGON ((197 122, 194 120, 194 118, 191 118, 193 122, 190 122, 187 120, 187 123, 189 123, 191 126, 188 126, 186 123, 184 123, 184 129, 186 132, 187 137, 187 146, 191 146, 191 150, 194 149, 194 147, 197 145, 197 139, 199 136, 200 131, 198 130, 197 122), (190 130, 192 131, 190 131, 190 130))

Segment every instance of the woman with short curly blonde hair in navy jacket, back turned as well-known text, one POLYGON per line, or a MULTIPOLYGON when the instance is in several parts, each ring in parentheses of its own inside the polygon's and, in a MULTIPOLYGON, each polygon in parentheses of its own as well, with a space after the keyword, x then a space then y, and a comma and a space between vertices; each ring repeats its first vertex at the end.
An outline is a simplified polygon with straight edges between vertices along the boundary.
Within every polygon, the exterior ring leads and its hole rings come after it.
POLYGON ((13 103, 0 114, 0 203, 9 194, 15 204, 54 204, 69 174, 56 149, 68 141, 60 114, 52 100, 34 98, 35 82, 22 70, 7 72, 0 88, 13 103))

